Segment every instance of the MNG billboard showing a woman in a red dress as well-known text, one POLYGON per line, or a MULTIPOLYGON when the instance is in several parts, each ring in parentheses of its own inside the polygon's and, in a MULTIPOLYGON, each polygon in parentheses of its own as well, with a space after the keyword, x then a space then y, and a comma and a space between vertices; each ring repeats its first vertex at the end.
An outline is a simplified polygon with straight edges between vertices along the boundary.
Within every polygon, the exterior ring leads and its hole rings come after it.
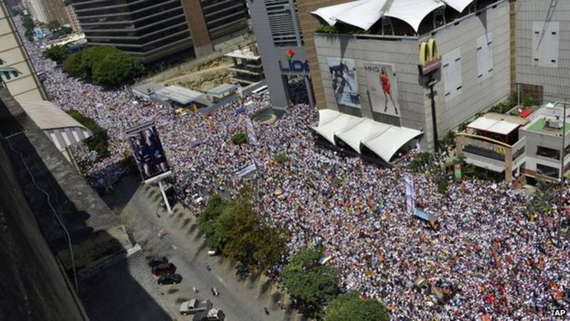
POLYGON ((398 81, 391 63, 363 63, 372 111, 400 117, 398 81))

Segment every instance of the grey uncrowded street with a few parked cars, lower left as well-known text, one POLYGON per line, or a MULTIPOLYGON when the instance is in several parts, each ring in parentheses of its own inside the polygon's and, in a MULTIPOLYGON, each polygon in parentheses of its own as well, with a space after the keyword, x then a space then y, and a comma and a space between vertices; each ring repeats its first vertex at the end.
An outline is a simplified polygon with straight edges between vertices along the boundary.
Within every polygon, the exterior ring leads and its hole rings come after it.
MULTIPOLYGON (((192 320, 192 316, 180 315, 180 303, 198 297, 211 300, 214 308, 224 310, 226 320, 303 320, 294 310, 279 309, 278 302, 289 305, 288 298, 281 294, 266 277, 249 277, 239 281, 235 268, 220 256, 209 257, 204 239, 199 233, 194 216, 176 205, 172 214, 158 208, 162 201, 160 190, 155 186, 138 185, 138 178, 130 175, 115 187, 115 193, 104 197, 105 201, 120 210, 123 223, 133 233, 142 250, 127 259, 130 277, 121 277, 113 267, 109 267, 97 280, 86 280, 90 285, 105 288, 108 283, 116 291, 109 293, 104 302, 87 302, 88 310, 97 310, 101 318, 114 315, 117 320, 192 320), (129 195, 130 193, 133 195, 129 195), (124 205, 125 200, 130 200, 124 205), (162 238, 160 238, 162 235, 162 238), (183 280, 179 285, 157 285, 146 265, 145 257, 165 255, 177 267, 183 280), (205 268, 211 265, 211 271, 205 268), (157 313, 145 311, 145 306, 122 286, 123 280, 134 278, 157 305, 162 307, 170 318, 157 317, 157 313), (194 294, 193 287, 198 289, 194 294), (219 297, 212 295, 211 287, 216 287, 219 297), (93 305, 104 305, 93 307, 93 305), (269 315, 264 312, 269 309, 269 315), (152 315, 152 316, 151 316, 152 315)), ((126 276, 126 275, 125 275, 126 276)), ((108 319, 110 320, 110 319, 108 319)), ((115 318, 113 318, 115 320, 115 318)))

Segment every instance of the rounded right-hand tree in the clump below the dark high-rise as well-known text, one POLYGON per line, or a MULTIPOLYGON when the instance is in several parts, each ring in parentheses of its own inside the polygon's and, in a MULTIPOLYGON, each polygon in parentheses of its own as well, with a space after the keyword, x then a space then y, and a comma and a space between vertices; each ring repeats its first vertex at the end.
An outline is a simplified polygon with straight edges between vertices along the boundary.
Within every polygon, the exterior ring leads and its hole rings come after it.
POLYGON ((119 86, 132 82, 142 74, 142 64, 118 49, 93 62, 93 83, 103 86, 119 86))

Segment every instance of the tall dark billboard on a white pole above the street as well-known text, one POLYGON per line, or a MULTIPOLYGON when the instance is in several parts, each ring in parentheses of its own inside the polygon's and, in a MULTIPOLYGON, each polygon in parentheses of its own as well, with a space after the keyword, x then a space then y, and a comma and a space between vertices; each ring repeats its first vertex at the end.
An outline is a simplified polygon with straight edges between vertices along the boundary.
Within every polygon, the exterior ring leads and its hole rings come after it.
POLYGON ((170 175, 170 165, 167 163, 154 122, 129 128, 126 135, 145 183, 170 175))

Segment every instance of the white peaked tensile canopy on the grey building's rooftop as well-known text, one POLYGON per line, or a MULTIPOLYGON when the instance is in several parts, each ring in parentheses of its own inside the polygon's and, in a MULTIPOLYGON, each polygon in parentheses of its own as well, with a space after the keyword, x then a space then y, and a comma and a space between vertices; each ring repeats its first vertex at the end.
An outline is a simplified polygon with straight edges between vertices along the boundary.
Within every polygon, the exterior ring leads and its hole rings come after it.
POLYGON ((368 30, 383 16, 405 21, 418 32, 420 23, 437 8, 451 6, 462 12, 473 0, 358 0, 335 6, 325 6, 311 12, 327 24, 337 21, 368 30))

